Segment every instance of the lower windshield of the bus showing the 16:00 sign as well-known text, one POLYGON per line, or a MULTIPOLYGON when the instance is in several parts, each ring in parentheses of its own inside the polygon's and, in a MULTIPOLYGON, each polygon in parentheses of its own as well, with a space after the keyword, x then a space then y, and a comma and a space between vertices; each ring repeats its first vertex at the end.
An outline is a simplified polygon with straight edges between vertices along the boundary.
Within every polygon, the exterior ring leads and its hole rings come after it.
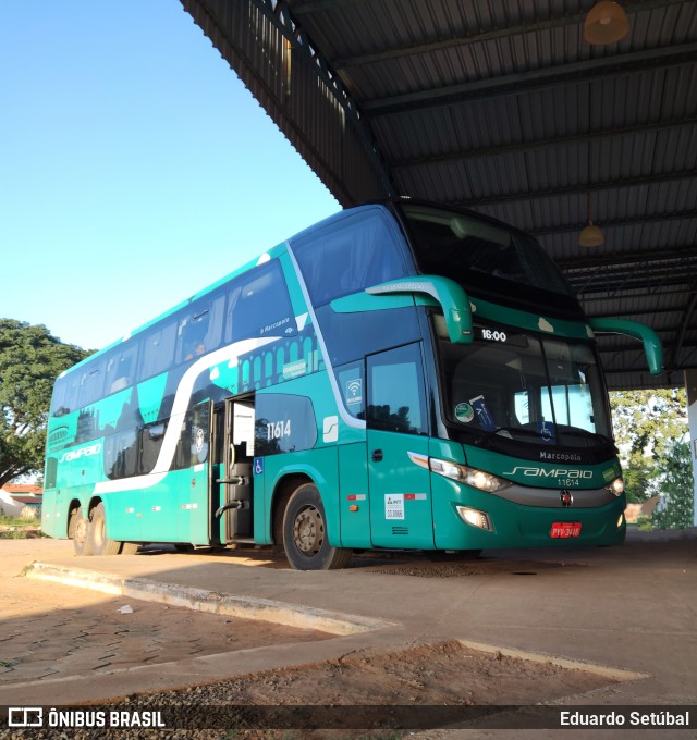
POLYGON ((578 451, 612 444, 589 342, 480 323, 470 345, 454 345, 441 316, 436 325, 445 420, 455 429, 503 447, 506 440, 578 451))

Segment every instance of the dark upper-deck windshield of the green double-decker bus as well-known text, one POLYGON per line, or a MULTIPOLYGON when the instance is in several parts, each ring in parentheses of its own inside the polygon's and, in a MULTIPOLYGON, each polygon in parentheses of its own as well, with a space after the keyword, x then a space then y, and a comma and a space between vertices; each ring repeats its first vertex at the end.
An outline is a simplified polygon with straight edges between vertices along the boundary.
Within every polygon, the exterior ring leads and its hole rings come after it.
POLYGON ((399 203, 418 269, 508 304, 580 313, 573 288, 538 242, 493 220, 425 203, 399 203))

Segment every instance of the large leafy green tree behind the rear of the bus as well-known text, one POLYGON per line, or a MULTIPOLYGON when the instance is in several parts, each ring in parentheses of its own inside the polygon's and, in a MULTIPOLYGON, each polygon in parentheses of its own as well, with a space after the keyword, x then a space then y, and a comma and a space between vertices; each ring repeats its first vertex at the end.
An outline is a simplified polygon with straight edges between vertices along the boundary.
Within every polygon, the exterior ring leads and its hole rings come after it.
POLYGON ((0 486, 41 471, 53 381, 89 354, 41 324, 0 319, 0 486))

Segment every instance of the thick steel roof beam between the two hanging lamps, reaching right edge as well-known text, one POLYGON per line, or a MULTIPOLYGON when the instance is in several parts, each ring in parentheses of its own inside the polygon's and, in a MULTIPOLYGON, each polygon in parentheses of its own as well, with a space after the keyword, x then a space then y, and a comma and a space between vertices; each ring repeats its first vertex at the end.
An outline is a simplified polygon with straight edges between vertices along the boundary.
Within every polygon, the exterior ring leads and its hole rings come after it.
POLYGON ((613 57, 586 59, 527 72, 477 79, 458 85, 364 100, 362 109, 372 116, 391 115, 416 109, 425 110, 460 102, 485 100, 529 92, 531 89, 566 87, 589 79, 616 78, 619 74, 639 74, 647 70, 667 70, 694 64, 697 41, 658 49, 643 49, 613 57))

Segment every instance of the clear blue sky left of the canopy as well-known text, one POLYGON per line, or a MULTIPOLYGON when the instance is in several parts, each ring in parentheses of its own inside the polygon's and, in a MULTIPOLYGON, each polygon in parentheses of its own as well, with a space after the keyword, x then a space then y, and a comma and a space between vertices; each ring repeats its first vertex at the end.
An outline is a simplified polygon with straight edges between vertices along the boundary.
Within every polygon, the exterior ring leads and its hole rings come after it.
POLYGON ((0 140, 0 318, 87 349, 340 210, 179 0, 1 0, 0 140))

